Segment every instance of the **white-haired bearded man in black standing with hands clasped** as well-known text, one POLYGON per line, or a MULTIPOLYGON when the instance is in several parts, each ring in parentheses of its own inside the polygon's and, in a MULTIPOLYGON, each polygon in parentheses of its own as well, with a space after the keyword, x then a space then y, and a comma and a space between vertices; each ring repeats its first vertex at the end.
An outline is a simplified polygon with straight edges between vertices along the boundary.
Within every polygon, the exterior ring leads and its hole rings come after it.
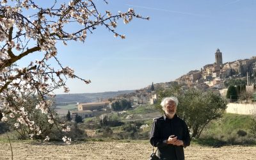
POLYGON ((184 147, 190 145, 188 126, 176 115, 178 106, 176 97, 166 97, 161 106, 164 115, 156 118, 150 132, 150 143, 157 147, 157 157, 160 159, 185 159, 184 147))

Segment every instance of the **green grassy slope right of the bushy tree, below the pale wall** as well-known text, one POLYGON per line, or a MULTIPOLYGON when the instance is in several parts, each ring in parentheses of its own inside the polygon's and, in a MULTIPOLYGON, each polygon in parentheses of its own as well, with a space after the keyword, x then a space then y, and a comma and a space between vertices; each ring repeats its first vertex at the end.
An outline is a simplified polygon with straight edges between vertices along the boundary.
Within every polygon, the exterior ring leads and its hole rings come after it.
POLYGON ((256 145, 250 133, 252 116, 225 113, 207 125, 196 143, 201 145, 256 145), (244 132, 246 135, 241 135, 244 132))

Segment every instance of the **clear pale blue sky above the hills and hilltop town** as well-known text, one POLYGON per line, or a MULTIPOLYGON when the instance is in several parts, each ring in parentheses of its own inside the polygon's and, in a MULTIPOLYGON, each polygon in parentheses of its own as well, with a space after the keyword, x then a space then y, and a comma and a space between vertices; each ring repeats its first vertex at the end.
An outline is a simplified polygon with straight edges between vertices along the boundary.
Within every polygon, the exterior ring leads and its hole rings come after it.
MULTIPOLYGON (((150 20, 118 22, 115 38, 104 27, 86 42, 58 45, 58 58, 77 76, 67 81, 70 93, 136 90, 174 81, 190 70, 214 63, 220 49, 223 63, 256 56, 255 0, 95 0, 99 10, 113 14, 134 8, 150 20)), ((72 26, 76 27, 76 26, 72 26)), ((36 55, 21 60, 26 63, 36 55)), ((64 93, 57 90, 57 94, 64 93)))

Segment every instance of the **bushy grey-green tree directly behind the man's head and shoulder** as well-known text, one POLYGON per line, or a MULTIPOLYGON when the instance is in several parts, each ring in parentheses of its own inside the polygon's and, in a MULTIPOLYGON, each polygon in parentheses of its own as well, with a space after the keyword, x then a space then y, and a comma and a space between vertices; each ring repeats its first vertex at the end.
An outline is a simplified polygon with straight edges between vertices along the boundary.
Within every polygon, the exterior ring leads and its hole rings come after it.
MULTIPOLYGON (((180 86, 175 86, 159 90, 158 93, 160 100, 164 97, 177 97, 179 100, 177 115, 186 121, 193 138, 199 138, 205 126, 212 120, 220 118, 227 108, 225 99, 210 91, 202 92, 195 88, 182 90, 180 86)), ((157 108, 163 112, 162 107, 159 105, 160 100, 157 108)))

